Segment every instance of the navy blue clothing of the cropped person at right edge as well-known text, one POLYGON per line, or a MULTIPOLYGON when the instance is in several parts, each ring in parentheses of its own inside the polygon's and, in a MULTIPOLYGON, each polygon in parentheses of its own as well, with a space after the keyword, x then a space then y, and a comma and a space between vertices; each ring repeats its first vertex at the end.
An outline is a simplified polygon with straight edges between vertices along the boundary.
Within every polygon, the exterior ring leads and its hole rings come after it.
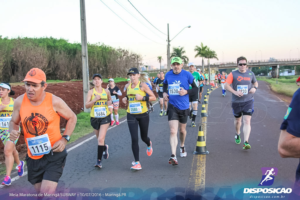
MULTIPOLYGON (((280 126, 280 130, 286 130, 289 134, 300 137, 300 88, 295 91, 291 104, 286 111, 286 115, 284 116, 284 120, 280 126)), ((300 161, 300 160, 299 160, 300 161)), ((300 162, 298 164, 296 170, 296 183, 300 184, 300 162)))

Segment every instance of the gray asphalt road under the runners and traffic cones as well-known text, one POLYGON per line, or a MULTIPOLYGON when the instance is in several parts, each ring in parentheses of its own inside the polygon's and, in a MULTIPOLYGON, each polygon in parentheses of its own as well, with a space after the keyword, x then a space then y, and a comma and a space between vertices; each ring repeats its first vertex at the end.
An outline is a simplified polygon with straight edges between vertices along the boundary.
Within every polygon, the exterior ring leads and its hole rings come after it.
MULTIPOLYGON (((206 91, 207 86, 204 87, 204 92, 206 91)), ((262 178, 261 167, 278 168, 272 187, 291 187, 298 159, 283 159, 277 152, 279 127, 287 104, 272 94, 266 83, 259 82, 259 89, 254 94, 255 111, 249 139, 251 149, 243 150, 242 142, 237 145, 234 141, 233 115, 228 103, 231 93, 227 92, 226 97, 221 94, 220 87, 211 91, 207 123, 201 124, 200 104, 196 118, 197 127, 190 127, 188 120, 185 140, 187 157, 179 156, 178 145, 178 166, 168 163, 171 155, 170 129, 167 116, 159 116, 159 104, 150 113, 152 156, 146 155, 146 144, 141 139, 139 141, 142 170, 130 170, 134 157, 127 121, 107 131, 105 142, 109 145, 109 158, 102 160, 101 169, 93 167, 97 160, 95 137, 71 150, 75 144, 69 144, 67 162, 57 193, 76 195, 59 196, 57 199, 116 199, 105 196, 107 193, 126 194, 126 197, 119 199, 171 199, 175 196, 176 199, 199 199, 200 196, 203 199, 244 199, 241 190, 244 187, 257 187, 262 178), (193 155, 200 125, 206 126, 205 142, 207 150, 210 151, 208 155, 193 155), (84 197, 85 195, 94 197, 84 197)), ((202 101, 203 98, 204 95, 202 101)), ((91 136, 93 133, 79 142, 91 136)), ((0 199, 20 199, 9 197, 13 193, 35 193, 33 186, 27 181, 27 175, 13 181, 9 187, 0 188, 0 199)))

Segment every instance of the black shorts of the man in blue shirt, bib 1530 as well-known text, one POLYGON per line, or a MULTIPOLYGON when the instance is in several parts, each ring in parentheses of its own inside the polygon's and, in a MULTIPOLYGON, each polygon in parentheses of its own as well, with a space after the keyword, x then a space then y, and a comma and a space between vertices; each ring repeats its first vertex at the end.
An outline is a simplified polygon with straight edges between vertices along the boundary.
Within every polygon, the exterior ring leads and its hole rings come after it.
POLYGON ((178 120, 182 124, 187 123, 187 116, 190 114, 190 109, 179 110, 172 104, 168 103, 167 115, 168 121, 178 120))

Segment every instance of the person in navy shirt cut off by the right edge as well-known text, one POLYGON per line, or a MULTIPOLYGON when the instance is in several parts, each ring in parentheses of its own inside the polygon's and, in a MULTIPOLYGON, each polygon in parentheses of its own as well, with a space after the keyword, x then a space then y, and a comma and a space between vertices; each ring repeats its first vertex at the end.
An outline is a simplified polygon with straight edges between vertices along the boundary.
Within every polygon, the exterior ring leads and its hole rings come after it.
MULTIPOLYGON (((295 91, 292 102, 280 126, 278 152, 283 158, 300 158, 300 88, 295 91)), ((300 187, 300 163, 296 170, 296 187, 300 187)))

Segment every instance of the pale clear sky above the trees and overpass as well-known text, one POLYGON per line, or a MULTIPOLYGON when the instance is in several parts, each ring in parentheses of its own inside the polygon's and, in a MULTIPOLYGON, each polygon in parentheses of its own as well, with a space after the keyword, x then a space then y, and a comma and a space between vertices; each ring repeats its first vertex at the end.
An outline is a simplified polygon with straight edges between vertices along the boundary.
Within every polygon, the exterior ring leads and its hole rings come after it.
MULTIPOLYGON (((184 47, 196 65, 202 63, 194 51, 201 42, 217 54, 211 64, 236 61, 241 55, 248 60, 299 58, 298 0, 129 1, 85 0, 88 43, 129 49, 142 55, 145 65, 159 67, 158 56, 167 64, 169 23, 170 40, 191 26, 170 42, 170 49, 184 47)), ((55 37, 81 43, 79 0, 0 3, 2 38, 55 37)))

